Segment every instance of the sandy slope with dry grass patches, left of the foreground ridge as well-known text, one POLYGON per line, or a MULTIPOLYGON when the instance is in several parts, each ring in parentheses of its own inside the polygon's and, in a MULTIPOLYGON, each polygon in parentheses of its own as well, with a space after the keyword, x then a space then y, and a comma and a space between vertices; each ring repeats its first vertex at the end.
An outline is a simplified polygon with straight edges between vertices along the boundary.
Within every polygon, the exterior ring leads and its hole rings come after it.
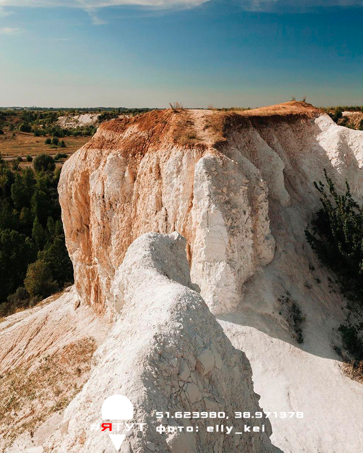
POLYGON ((108 329, 79 306, 74 286, 0 323, 0 451, 40 449, 62 420, 64 401, 88 380, 108 329))

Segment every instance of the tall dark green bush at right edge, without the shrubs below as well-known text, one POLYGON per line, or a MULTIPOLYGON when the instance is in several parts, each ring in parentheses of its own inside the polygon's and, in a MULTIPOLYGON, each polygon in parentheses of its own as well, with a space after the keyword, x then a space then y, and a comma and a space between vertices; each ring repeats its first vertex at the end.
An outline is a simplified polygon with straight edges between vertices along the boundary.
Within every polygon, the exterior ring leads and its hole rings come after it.
POLYGON ((305 236, 321 261, 336 272, 343 293, 362 304, 363 206, 353 200, 347 181, 345 195, 338 195, 325 169, 324 175, 329 193, 321 181, 314 182, 322 208, 314 215, 312 232, 305 230, 305 236))

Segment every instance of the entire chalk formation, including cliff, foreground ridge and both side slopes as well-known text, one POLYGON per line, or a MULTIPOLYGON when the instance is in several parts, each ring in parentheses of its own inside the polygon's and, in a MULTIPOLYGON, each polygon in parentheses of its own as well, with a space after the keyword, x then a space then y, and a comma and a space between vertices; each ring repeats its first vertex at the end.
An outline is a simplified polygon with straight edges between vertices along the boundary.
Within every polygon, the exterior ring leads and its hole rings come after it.
MULTIPOLYGON (((23 424, 12 438, 0 429, 5 451, 114 451, 104 432, 89 431, 112 392, 127 393, 136 420, 154 427, 152 410, 168 408, 272 413, 272 434, 268 422, 251 439, 150 430, 127 437, 124 452, 359 451, 362 386, 332 348, 341 347, 346 304, 304 237, 323 168, 362 200, 363 131, 309 104, 160 110, 103 123, 66 161, 59 184, 75 288, 0 324, 9 400, 11 367, 33 376, 47 355, 61 362, 54 354, 73 340, 84 351, 71 362, 79 380, 59 380, 78 387, 62 384, 63 399, 51 387, 41 419, 31 414, 46 396, 35 404, 26 393, 31 429, 23 424), (305 317, 301 344, 293 303, 305 317), (304 418, 273 415, 289 411, 304 418)), ((17 410, 10 404, 3 418, 21 419, 17 410)))

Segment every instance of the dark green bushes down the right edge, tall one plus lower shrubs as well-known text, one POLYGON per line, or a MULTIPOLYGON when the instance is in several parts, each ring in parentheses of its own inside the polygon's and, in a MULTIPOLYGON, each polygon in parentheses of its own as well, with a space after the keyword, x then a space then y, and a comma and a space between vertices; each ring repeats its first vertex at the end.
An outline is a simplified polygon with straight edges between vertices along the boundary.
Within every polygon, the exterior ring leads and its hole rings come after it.
POLYGON ((314 182, 321 194, 322 208, 314 215, 312 232, 307 229, 305 235, 321 261, 336 273, 342 293, 353 301, 347 306, 348 324, 341 324, 338 329, 349 355, 342 354, 339 348, 336 351, 343 358, 346 374, 363 382, 363 323, 350 322, 357 319, 355 313, 363 305, 363 206, 353 200, 347 181, 345 195, 338 195, 325 169, 324 175, 329 194, 325 184, 314 182))

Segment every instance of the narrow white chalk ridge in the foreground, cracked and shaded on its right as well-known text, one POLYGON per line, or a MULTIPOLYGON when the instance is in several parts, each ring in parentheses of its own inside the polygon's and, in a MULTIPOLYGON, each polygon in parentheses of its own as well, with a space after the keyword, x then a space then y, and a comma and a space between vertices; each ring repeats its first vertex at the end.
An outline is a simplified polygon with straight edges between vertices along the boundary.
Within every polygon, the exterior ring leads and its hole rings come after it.
POLYGON ((90 379, 65 410, 63 428, 49 440, 47 451, 114 451, 108 432, 90 430, 102 422, 102 404, 112 394, 125 395, 133 404, 130 423, 145 423, 142 433, 121 428, 119 433, 127 433, 121 451, 280 451, 270 442, 268 419, 248 423, 260 432, 235 433, 247 422, 234 418, 234 412, 261 411, 251 367, 194 290, 185 246, 178 233, 147 233, 131 244, 112 287, 114 298, 123 303, 122 315, 95 354, 90 379), (164 417, 157 419, 156 411, 164 417), (193 411, 225 412, 228 419, 175 417, 193 411), (233 427, 230 434, 207 431, 221 424, 233 427), (166 432, 159 433, 158 426, 166 432))

